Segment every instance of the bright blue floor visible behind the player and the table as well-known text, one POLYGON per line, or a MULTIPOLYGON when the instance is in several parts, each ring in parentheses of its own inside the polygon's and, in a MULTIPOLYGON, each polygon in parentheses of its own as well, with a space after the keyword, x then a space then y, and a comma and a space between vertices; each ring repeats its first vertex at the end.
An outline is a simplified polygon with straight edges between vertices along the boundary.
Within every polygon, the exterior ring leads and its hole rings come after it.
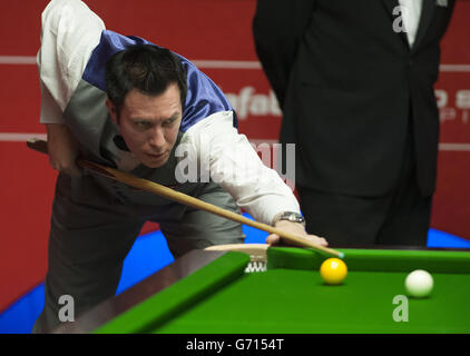
MULTIPOLYGON (((267 233, 248 226, 244 226, 243 230, 246 235, 246 244, 264 244, 267 237, 267 233)), ((470 241, 430 229, 428 247, 470 248, 470 241)), ((160 231, 140 236, 124 263, 117 294, 169 265, 173 260, 160 231)), ((43 285, 41 284, 0 314, 0 334, 29 334, 42 306, 43 285)))

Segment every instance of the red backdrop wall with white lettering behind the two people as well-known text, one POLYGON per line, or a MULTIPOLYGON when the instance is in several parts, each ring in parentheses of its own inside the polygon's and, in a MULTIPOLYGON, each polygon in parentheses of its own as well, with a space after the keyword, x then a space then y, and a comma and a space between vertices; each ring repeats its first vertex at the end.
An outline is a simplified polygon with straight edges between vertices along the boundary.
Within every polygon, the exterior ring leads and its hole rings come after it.
MULTIPOLYGON (((40 92, 33 57, 39 48, 40 13, 47 2, 0 2, 0 216, 3 222, 0 312, 42 281, 47 268, 56 172, 45 156, 26 148, 23 136, 45 132, 38 123, 40 92)), ((249 139, 277 138, 281 113, 257 62, 252 39, 255 0, 86 2, 108 29, 147 38, 195 60, 227 93, 237 109, 239 130, 249 139)), ((469 17, 470 1, 458 0, 442 43, 441 75, 435 88, 441 110, 441 150, 432 214, 434 228, 467 238, 470 238, 469 17)))

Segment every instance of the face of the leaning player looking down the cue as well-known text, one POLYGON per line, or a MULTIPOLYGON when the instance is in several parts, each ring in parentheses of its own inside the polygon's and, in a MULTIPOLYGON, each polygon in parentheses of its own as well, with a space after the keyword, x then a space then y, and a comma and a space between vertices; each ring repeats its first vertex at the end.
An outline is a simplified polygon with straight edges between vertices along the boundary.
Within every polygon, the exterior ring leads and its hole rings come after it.
POLYGON ((158 96, 130 90, 117 120, 116 107, 106 102, 111 118, 119 122, 120 135, 136 158, 147 167, 164 166, 175 146, 182 122, 182 102, 176 83, 158 96))

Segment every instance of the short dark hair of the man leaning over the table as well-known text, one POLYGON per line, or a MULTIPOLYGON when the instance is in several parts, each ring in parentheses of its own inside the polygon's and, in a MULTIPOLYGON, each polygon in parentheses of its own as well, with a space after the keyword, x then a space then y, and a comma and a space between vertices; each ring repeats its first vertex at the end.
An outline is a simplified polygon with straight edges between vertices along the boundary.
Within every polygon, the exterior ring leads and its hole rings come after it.
POLYGON ((151 44, 136 44, 112 56, 106 65, 108 97, 120 111, 126 95, 137 89, 157 96, 177 83, 182 107, 185 105, 186 71, 180 59, 169 50, 151 44))

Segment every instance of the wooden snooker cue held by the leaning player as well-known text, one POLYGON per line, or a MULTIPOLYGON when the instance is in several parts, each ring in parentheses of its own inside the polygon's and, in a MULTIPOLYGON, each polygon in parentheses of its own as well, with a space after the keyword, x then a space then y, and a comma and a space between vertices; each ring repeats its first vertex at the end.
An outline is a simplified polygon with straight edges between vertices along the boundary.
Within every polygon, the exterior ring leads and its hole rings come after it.
MULTIPOLYGON (((45 140, 30 139, 30 140, 27 141, 27 146, 29 148, 36 150, 36 151, 39 151, 39 152, 42 152, 42 154, 48 154, 47 141, 45 141, 45 140)), ((296 246, 301 246, 301 247, 311 247, 311 248, 314 248, 319 251, 323 251, 327 255, 332 255, 332 256, 335 256, 335 257, 339 257, 339 258, 344 257, 343 253, 337 251, 337 250, 332 249, 332 248, 329 248, 329 247, 317 245, 315 243, 312 243, 312 241, 303 238, 302 236, 290 234, 290 233, 283 231, 281 229, 277 229, 275 227, 272 227, 270 225, 251 220, 248 218, 245 218, 242 215, 238 215, 238 214, 235 214, 233 211, 223 209, 223 208, 217 207, 213 204, 203 201, 200 199, 194 198, 194 197, 188 196, 186 194, 173 190, 172 188, 161 186, 161 185, 156 184, 154 181, 150 181, 148 179, 138 178, 138 177, 133 176, 130 174, 127 174, 127 172, 124 172, 124 171, 120 171, 120 170, 117 170, 117 169, 114 169, 114 168, 110 168, 110 167, 106 167, 106 166, 102 166, 102 165, 99 165, 99 164, 95 164, 95 162, 88 161, 88 160, 82 159, 82 158, 77 159, 77 166, 80 167, 80 168, 94 171, 96 174, 99 174, 101 176, 105 176, 105 177, 115 179, 117 181, 124 182, 124 184, 131 186, 134 188, 156 194, 158 196, 170 199, 173 201, 180 202, 180 204, 184 204, 184 205, 187 205, 187 206, 190 206, 193 208, 200 209, 200 210, 205 210, 205 211, 225 217, 229 220, 241 222, 241 224, 245 224, 245 225, 248 225, 251 227, 257 228, 260 230, 264 230, 264 231, 270 233, 270 234, 276 234, 277 236, 282 237, 285 241, 287 241, 292 245, 296 245, 296 246)))

